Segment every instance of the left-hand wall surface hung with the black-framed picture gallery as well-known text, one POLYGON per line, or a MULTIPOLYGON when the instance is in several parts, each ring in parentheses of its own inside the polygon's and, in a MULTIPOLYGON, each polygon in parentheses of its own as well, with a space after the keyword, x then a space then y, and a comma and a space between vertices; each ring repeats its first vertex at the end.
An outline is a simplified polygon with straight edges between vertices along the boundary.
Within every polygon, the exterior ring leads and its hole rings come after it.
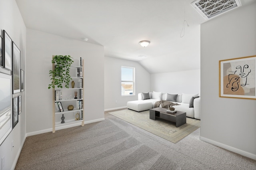
MULTIPOLYGON (((26 73, 25 61, 26 61, 26 26, 20 15, 20 11, 17 7, 15 0, 0 0, 0 35, 3 36, 3 30, 6 30, 8 35, 12 38, 12 41, 20 49, 21 54, 21 69, 26 73)), ((10 74, 10 71, 0 67, 0 72, 10 74)), ((26 80, 26 77, 25 77, 26 80)), ((1 82, 0 82, 1 83, 1 82)), ((1 87, 1 84, 0 84, 1 87)), ((15 93, 13 97, 22 96, 22 113, 18 117, 18 124, 14 127, 12 132, 7 138, 0 144, 0 168, 2 167, 1 159, 4 157, 4 170, 10 170, 14 168, 18 156, 22 149, 25 140, 25 127, 26 127, 26 83, 25 91, 21 93, 15 93), (12 150, 11 143, 14 143, 12 150)))

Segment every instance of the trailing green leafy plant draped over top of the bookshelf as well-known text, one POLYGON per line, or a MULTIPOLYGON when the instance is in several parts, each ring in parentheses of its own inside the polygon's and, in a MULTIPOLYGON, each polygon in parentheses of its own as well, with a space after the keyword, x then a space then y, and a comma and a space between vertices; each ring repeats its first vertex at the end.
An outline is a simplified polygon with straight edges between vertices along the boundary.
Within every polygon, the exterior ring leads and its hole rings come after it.
POLYGON ((62 83, 66 88, 69 87, 69 82, 72 80, 69 74, 70 66, 73 62, 73 58, 70 55, 55 55, 52 57, 52 63, 55 63, 55 68, 49 71, 52 83, 48 85, 48 89, 55 88, 55 86, 62 88, 62 83))

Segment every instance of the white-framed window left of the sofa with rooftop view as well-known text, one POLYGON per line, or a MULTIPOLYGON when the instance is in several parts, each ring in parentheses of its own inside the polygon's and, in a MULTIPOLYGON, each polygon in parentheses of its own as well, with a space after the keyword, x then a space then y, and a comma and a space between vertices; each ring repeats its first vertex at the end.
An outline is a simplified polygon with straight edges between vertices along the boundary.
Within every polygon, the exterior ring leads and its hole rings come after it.
POLYGON ((121 89, 122 96, 135 95, 135 68, 122 66, 121 69, 121 89))

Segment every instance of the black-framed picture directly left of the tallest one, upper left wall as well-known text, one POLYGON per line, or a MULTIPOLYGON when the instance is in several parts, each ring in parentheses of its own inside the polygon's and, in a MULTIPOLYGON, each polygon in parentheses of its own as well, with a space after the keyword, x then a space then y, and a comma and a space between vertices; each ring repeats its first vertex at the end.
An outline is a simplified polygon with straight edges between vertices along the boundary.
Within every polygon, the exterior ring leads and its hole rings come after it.
POLYGON ((5 30, 3 30, 3 37, 3 66, 6 69, 12 70, 12 39, 5 30))

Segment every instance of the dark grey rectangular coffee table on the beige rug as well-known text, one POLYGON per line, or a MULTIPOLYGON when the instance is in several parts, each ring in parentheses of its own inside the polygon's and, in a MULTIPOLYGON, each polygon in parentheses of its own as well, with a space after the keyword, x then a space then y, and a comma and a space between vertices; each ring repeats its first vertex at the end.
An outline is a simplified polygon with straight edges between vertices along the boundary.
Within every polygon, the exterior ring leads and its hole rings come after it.
POLYGON ((176 113, 167 113, 168 109, 156 107, 149 110, 149 119, 156 120, 156 117, 176 123, 176 127, 186 123, 186 112, 177 111, 176 113))

